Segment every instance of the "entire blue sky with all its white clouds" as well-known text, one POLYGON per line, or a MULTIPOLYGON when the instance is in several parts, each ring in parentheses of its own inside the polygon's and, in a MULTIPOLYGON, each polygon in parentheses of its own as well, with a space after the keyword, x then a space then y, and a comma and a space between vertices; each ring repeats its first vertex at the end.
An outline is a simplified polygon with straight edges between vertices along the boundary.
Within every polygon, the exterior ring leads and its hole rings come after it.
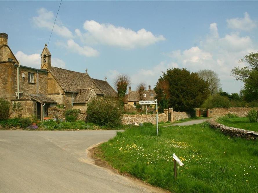
MULTIPOLYGON (((40 68, 60 1, 1 1, 0 33, 21 65, 40 68)), ((155 87, 162 71, 215 71, 223 91, 239 93, 231 69, 258 51, 258 1, 61 2, 48 49, 52 66, 113 86, 122 73, 155 87)))

